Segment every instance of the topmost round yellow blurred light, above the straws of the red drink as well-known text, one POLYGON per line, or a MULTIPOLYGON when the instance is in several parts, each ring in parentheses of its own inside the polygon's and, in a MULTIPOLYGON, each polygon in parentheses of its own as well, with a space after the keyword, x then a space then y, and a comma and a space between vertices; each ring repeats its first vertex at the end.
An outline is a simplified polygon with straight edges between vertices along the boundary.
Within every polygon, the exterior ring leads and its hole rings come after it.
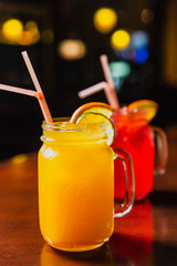
POLYGON ((101 33, 111 32, 117 24, 118 17, 113 9, 101 8, 93 16, 93 23, 101 33))

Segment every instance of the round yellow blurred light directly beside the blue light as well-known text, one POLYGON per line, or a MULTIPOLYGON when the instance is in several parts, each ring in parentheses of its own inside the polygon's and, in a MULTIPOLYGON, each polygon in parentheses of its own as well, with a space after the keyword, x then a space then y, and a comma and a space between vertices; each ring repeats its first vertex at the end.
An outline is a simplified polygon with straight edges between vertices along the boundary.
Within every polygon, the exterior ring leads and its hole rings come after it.
POLYGON ((117 30, 111 37, 111 44, 114 49, 124 50, 131 41, 129 33, 125 30, 117 30))

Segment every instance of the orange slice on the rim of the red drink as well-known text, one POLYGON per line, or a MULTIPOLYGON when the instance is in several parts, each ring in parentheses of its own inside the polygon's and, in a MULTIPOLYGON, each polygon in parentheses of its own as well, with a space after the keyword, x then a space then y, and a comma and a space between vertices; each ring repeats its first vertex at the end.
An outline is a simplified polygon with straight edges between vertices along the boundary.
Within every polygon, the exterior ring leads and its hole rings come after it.
POLYGON ((138 100, 128 105, 128 110, 135 109, 144 111, 146 120, 150 122, 157 113, 158 104, 152 100, 138 100))

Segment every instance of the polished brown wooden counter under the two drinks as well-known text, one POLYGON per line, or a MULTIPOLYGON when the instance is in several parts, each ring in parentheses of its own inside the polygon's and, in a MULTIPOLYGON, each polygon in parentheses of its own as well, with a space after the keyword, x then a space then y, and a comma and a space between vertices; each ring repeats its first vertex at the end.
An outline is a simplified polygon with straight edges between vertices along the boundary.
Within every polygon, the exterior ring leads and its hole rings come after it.
POLYGON ((153 193, 115 219, 110 242, 64 253, 43 241, 38 217, 37 153, 0 162, 0 266, 177 265, 177 126, 166 130, 169 161, 153 193))

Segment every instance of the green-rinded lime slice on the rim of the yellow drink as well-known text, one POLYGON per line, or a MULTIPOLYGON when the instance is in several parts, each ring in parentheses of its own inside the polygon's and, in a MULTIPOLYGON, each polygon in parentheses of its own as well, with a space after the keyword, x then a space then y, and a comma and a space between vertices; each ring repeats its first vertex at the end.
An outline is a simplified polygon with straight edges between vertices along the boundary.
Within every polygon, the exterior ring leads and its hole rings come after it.
POLYGON ((111 146, 114 141, 115 131, 112 121, 104 114, 94 112, 83 113, 76 120, 75 124, 94 124, 101 122, 103 122, 105 125, 106 143, 108 146, 111 146))

